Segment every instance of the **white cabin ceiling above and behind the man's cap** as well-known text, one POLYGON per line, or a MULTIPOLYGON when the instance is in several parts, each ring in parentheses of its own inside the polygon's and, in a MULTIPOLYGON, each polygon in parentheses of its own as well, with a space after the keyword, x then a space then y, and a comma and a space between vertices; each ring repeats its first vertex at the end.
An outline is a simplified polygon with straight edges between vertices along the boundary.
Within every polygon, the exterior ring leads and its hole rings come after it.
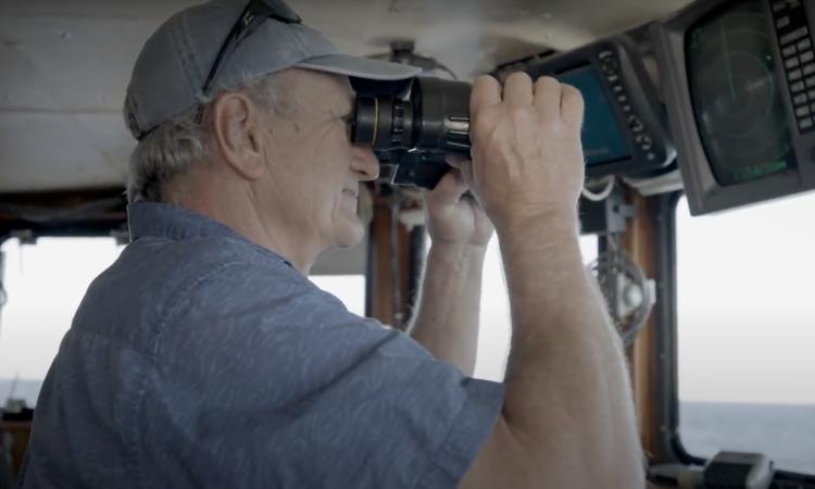
MULTIPOLYGON (((0 2, 0 192, 122 186, 134 146, 122 101, 143 41, 187 0, 0 2)), ((688 0, 290 0, 341 50, 392 39, 461 78, 580 46, 662 17, 688 0)))

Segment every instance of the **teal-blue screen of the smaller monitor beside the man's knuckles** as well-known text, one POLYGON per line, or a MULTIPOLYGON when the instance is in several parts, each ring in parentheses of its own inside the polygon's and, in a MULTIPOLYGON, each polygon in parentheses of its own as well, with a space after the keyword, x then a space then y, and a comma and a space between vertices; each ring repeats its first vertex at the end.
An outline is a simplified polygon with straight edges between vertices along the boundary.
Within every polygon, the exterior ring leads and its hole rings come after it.
POLYGON ((586 164, 600 165, 631 158, 628 142, 594 68, 587 64, 557 74, 555 78, 580 90, 586 101, 582 128, 586 164))

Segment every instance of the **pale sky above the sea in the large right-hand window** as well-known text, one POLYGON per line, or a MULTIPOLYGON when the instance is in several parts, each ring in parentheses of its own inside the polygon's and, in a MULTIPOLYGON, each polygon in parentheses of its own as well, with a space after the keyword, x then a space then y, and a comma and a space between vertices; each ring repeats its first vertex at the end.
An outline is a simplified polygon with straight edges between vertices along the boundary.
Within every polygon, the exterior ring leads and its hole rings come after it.
POLYGON ((815 404, 815 195, 677 210, 679 397, 815 404))

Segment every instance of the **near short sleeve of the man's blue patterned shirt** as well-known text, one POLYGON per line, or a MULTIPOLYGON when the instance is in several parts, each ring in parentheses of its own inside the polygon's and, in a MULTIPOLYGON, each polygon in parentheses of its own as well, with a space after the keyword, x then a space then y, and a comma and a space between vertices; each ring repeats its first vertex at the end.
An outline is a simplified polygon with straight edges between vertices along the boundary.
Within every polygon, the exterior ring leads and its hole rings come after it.
POLYGON ((172 312, 139 416, 160 486, 453 488, 503 403, 284 265, 225 267, 172 312))

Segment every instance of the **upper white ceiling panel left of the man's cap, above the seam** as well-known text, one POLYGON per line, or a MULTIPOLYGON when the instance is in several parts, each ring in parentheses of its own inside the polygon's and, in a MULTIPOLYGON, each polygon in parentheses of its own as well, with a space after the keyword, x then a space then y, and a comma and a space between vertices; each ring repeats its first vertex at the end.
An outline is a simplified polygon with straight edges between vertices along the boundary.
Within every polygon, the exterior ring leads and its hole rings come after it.
POLYGON ((0 16, 0 110, 122 111, 143 20, 0 16))

